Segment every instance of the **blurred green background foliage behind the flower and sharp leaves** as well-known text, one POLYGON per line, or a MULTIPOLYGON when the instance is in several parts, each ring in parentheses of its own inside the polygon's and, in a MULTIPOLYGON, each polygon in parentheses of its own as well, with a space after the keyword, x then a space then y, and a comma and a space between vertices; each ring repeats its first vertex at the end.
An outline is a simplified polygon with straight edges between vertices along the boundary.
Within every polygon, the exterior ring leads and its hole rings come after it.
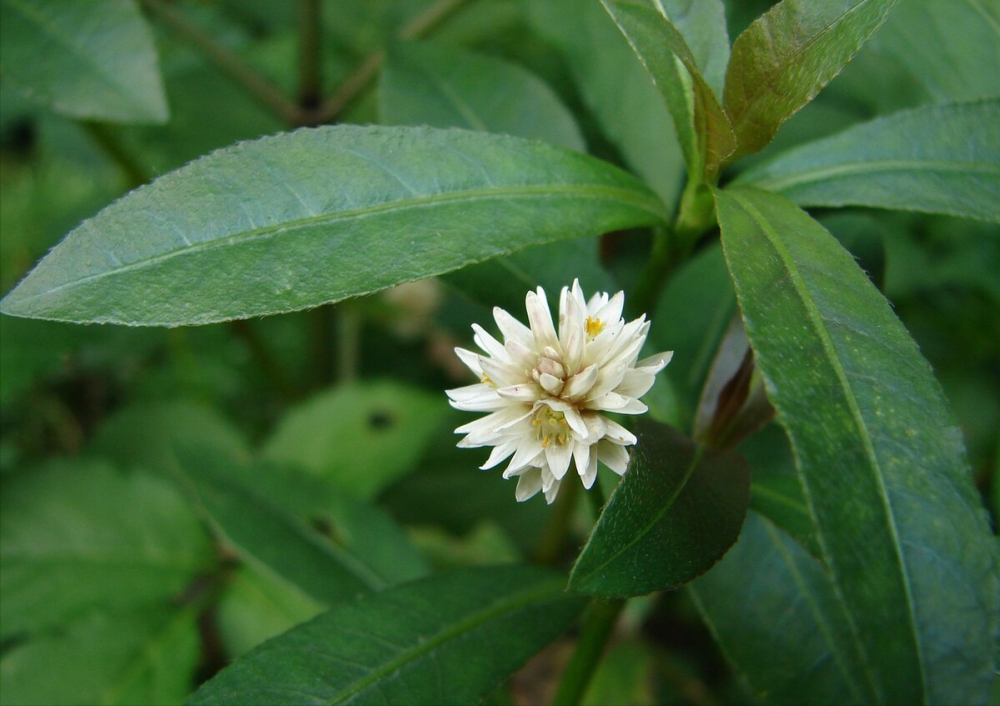
MULTIPOLYGON (((730 36, 770 4, 730 0, 730 36)), ((171 5, 295 92, 295 3, 171 5)), ((496 121, 488 129, 535 131, 587 149, 638 172, 668 203, 677 198, 679 150, 672 135, 653 129, 669 120, 596 3, 591 13, 574 9, 575 0, 478 0, 437 27, 433 43, 393 44, 427 5, 322 4, 323 95, 392 44, 381 75, 340 120, 447 123, 455 118, 424 100, 420 76, 449 66, 449 80, 472 86, 461 69, 496 71, 525 84, 530 105, 548 101, 564 120, 543 122, 527 107, 505 112, 498 104, 486 113, 496 121), (552 13, 566 21, 548 21, 552 13), (595 65, 596 46, 606 51, 603 66, 595 65)), ((0 82, 0 291, 127 190, 214 149, 290 127, 183 37, 160 22, 152 27, 170 111, 162 125, 72 120, 0 82)), ((998 62, 995 32, 977 20, 972 2, 901 3, 843 75, 739 166, 902 108, 1000 94, 1000 70, 984 68, 998 62), (915 50, 928 43, 938 51, 915 50), (959 44, 984 55, 948 49, 959 44)), ((996 520, 996 226, 868 209, 816 215, 885 292, 933 365, 996 520)), ((288 518, 271 531, 311 532, 318 552, 350 555, 358 575, 378 585, 432 568, 570 560, 588 529, 585 506, 516 504, 511 484, 481 474, 481 459, 454 448, 452 430, 464 416, 448 408, 442 390, 463 384, 465 374, 451 350, 470 344, 469 325, 488 320, 493 305, 523 316, 523 294, 535 284, 558 291, 578 276, 587 290, 616 291, 634 282, 646 237, 543 246, 361 300, 225 325, 128 329, 4 317, 4 702, 178 703, 235 656, 344 597, 303 591, 245 558, 266 533, 206 522, 218 487, 251 493, 252 486, 288 518), (179 481, 184 454, 224 459, 221 485, 179 481), (553 511, 579 514, 570 537, 546 534, 553 511)), ((652 347, 676 351, 649 395, 655 417, 690 431, 734 313, 719 247, 707 243, 650 312, 652 347)), ((775 428, 746 446, 755 478, 787 473, 787 443, 775 428)), ((306 570, 290 570, 299 569, 306 570)), ((585 703, 753 702, 687 591, 633 601, 618 630, 585 703)), ((536 658, 494 702, 548 698, 569 642, 536 658)))

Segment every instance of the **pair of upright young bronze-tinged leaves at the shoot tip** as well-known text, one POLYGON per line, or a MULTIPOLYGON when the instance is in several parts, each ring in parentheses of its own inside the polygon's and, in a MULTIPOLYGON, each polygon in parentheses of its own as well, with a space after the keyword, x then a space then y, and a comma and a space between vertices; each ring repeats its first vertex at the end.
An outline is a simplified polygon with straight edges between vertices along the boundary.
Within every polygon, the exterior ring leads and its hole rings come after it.
MULTIPOLYGON (((703 74, 708 62, 698 61, 678 28, 685 3, 602 0, 660 90, 689 174, 708 183, 725 164, 763 149, 843 69, 896 1, 783 0, 737 37, 720 105, 703 74)), ((702 4, 718 5, 721 17, 721 3, 702 4)), ((724 21, 703 16, 707 21, 686 34, 710 35, 716 55, 724 55, 724 21)))

